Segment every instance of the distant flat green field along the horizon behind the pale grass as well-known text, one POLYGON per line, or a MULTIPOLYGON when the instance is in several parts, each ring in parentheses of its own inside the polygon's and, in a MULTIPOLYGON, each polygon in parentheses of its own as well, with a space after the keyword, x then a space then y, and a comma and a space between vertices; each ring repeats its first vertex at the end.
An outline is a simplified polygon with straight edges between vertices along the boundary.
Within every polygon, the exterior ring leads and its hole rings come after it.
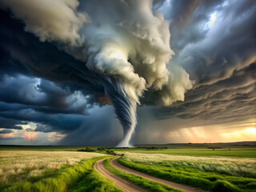
MULTIPOLYGON (((146 146, 149 147, 150 145, 146 146)), ((242 143, 228 143, 228 144, 216 144, 216 143, 199 143, 199 144, 170 144, 170 145, 157 145, 156 147, 167 147, 166 150, 146 150, 140 148, 129 149, 116 149, 114 151, 123 152, 136 152, 144 154, 177 154, 177 155, 189 155, 189 156, 223 156, 223 157, 235 157, 235 158, 256 158, 256 142, 242 143), (212 150, 212 148, 215 148, 212 150)), ((1 150, 38 150, 38 151, 76 151, 86 148, 86 146, 0 146, 1 150)), ((96 149, 98 146, 90 146, 90 148, 96 149)), ((98 151, 101 152, 101 151, 98 151)))

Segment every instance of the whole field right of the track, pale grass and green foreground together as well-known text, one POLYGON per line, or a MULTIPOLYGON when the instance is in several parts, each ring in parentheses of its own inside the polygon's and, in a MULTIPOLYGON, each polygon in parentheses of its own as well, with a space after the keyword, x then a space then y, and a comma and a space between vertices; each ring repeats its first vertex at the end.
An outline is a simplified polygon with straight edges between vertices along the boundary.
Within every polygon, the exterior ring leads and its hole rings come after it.
POLYGON ((255 191, 253 158, 190 157, 127 153, 119 162, 158 178, 211 191, 255 191))

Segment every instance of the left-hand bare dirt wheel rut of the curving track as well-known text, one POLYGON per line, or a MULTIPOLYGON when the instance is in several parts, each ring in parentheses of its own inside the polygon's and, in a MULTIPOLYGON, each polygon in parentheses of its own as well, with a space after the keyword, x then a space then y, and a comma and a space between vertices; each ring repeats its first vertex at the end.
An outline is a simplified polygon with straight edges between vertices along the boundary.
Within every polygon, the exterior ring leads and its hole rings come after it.
POLYGON ((98 170, 101 174, 103 174, 106 178, 110 179, 114 182, 114 185, 119 189, 126 192, 147 192, 147 190, 142 189, 139 186, 134 185, 134 183, 128 182, 119 176, 112 174, 109 170, 106 169, 103 162, 106 158, 99 160, 94 163, 94 169, 98 170))

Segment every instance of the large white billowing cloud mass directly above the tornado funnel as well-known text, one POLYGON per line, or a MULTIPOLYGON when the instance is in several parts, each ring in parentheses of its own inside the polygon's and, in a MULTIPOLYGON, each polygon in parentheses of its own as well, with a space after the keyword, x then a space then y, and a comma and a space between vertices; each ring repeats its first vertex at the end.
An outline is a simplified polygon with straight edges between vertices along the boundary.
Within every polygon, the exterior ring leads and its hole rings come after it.
POLYGON ((90 14, 94 23, 85 30, 90 47, 87 66, 118 76, 130 86, 136 101, 146 89, 163 89, 159 98, 163 105, 183 101, 192 82, 182 66, 167 68, 174 54, 169 22, 160 12, 152 11, 152 1, 125 1, 116 6, 118 9, 111 11, 116 12, 117 21, 108 12, 90 14))

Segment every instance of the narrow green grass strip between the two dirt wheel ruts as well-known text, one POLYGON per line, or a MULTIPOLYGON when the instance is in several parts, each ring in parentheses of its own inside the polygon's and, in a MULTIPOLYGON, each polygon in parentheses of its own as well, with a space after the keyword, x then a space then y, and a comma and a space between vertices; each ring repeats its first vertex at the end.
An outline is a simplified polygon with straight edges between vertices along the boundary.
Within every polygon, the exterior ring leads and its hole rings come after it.
MULTIPOLYGON (((116 157, 114 157, 114 158, 116 158, 116 157)), ((117 174, 118 176, 126 179, 127 181, 134 183, 137 186, 141 186, 142 188, 152 191, 152 192, 167 192, 167 191, 181 192, 182 191, 182 190, 176 190, 169 186, 165 186, 158 182, 152 182, 146 178, 142 178, 142 177, 139 177, 134 174, 127 174, 125 172, 122 172, 121 170, 116 170, 113 166, 110 165, 111 159, 112 158, 108 158, 104 161, 104 165, 106 166, 106 169, 108 169, 112 173, 117 174)))

